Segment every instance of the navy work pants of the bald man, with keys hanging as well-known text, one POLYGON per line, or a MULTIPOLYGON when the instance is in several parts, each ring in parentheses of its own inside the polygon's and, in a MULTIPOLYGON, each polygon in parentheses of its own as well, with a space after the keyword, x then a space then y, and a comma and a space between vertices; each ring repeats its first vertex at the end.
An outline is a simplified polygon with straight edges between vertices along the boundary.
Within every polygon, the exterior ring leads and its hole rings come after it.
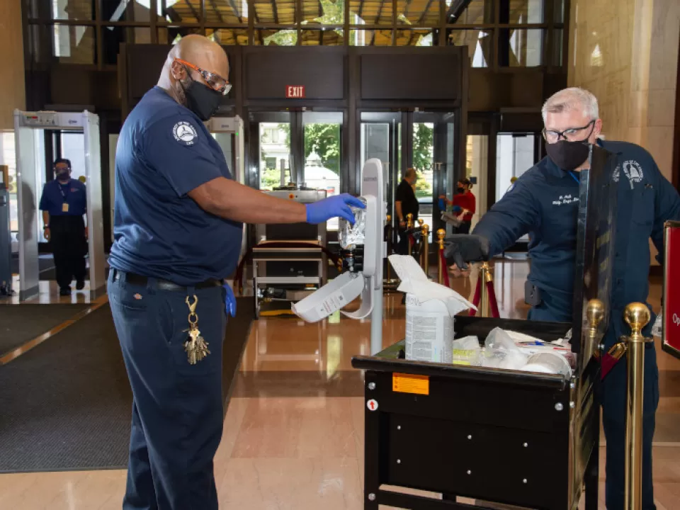
POLYGON ((212 458, 222 438, 221 287, 186 293, 126 281, 113 269, 108 297, 132 386, 128 486, 123 510, 214 510, 212 458), (198 329, 210 354, 190 365, 186 295, 198 296, 198 329))

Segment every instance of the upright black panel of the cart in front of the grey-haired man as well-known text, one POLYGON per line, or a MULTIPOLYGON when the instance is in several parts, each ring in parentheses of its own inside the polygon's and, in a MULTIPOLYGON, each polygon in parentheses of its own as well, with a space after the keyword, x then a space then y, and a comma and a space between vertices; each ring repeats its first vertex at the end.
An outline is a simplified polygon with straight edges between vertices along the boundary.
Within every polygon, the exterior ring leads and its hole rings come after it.
MULTIPOLYGON (((596 339, 607 329, 611 303, 614 234, 616 232, 616 154, 594 145, 590 169, 581 172, 576 264, 574 271, 574 329, 572 351, 579 353, 577 375, 582 375, 596 351, 587 336, 588 302, 599 299, 604 317, 596 339)), ((599 340, 598 340, 599 341, 599 340)))

